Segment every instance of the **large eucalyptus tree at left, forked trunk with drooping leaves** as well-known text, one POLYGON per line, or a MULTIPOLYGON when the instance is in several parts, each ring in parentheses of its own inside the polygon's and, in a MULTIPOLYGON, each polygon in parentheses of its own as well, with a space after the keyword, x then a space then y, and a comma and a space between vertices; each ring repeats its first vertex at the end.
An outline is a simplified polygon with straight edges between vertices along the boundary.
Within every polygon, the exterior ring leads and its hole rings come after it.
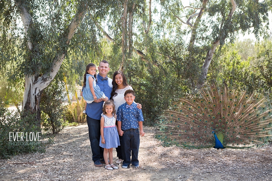
POLYGON ((23 110, 36 113, 37 122, 41 93, 62 63, 69 61, 66 57, 71 52, 99 52, 100 32, 94 20, 104 20, 112 5, 115 1, 1 1, 1 71, 15 79, 24 78, 23 110), (16 62, 16 66, 6 67, 8 62, 16 62))

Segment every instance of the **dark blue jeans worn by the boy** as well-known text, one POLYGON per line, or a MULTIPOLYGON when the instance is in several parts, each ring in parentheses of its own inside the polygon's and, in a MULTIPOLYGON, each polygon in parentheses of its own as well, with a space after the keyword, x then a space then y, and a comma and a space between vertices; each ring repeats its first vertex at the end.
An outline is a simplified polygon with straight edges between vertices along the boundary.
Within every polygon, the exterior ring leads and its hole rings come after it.
POLYGON ((128 129, 123 131, 121 140, 123 165, 139 165, 138 153, 140 146, 140 132, 139 129, 128 129), (130 160, 131 149, 131 160, 130 160))

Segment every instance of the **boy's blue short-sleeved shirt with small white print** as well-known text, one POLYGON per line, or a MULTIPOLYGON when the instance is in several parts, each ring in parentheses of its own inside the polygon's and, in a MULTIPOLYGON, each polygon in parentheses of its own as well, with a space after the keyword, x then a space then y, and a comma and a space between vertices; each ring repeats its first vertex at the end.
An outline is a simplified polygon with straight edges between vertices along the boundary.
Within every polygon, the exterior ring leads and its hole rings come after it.
POLYGON ((127 103, 122 104, 119 106, 117 110, 117 121, 122 121, 121 129, 123 131, 127 129, 137 129, 139 128, 138 121, 144 121, 142 109, 138 109, 136 103, 132 103, 132 109, 126 108, 127 103))

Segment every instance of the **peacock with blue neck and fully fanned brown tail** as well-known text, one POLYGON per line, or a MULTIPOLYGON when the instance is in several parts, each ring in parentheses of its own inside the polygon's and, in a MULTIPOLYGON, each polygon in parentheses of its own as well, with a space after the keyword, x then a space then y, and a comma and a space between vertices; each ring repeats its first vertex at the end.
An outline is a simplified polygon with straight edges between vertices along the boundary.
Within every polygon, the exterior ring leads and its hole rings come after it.
POLYGON ((160 118, 157 138, 186 148, 250 148, 263 145, 272 129, 266 97, 211 85, 180 99, 160 118))

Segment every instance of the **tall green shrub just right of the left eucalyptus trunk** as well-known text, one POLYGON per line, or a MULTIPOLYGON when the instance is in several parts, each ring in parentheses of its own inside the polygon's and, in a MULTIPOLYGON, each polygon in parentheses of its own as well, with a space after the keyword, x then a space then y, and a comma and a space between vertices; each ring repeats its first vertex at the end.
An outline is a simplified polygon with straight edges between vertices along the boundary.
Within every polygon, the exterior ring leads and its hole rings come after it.
POLYGON ((44 89, 41 96, 41 124, 45 132, 59 133, 63 129, 64 116, 64 83, 54 79, 50 85, 44 89))

